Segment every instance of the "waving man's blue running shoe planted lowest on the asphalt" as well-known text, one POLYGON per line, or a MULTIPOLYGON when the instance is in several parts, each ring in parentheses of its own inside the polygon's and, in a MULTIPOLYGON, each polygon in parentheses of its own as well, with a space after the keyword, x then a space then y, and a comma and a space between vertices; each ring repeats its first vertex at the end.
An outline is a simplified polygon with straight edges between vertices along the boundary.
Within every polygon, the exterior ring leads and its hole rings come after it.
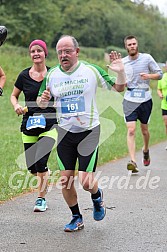
POLYGON ((70 223, 64 227, 65 232, 74 232, 84 228, 82 215, 73 215, 70 223))

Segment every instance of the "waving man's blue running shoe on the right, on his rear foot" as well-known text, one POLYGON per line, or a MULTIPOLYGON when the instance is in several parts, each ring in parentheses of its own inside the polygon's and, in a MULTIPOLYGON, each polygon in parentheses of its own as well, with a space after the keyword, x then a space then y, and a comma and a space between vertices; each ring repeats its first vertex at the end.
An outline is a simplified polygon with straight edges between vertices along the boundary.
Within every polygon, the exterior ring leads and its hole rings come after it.
POLYGON ((96 221, 102 220, 106 215, 106 207, 103 201, 103 191, 101 189, 100 194, 101 196, 97 199, 92 199, 93 201, 93 218, 96 221))

